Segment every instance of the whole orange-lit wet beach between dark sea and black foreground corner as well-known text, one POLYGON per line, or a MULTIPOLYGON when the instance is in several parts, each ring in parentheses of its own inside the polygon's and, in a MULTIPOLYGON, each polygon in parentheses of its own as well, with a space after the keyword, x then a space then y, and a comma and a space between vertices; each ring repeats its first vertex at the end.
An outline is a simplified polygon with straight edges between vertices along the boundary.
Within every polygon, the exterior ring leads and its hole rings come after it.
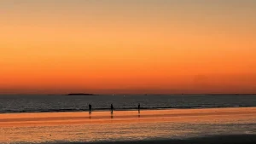
POLYGON ((1 143, 121 141, 211 133, 256 133, 256 108, 0 114, 1 143), (230 124, 236 126, 229 127, 230 124), (242 126, 240 126, 242 124, 242 126), (226 130, 226 131, 225 131, 226 130))

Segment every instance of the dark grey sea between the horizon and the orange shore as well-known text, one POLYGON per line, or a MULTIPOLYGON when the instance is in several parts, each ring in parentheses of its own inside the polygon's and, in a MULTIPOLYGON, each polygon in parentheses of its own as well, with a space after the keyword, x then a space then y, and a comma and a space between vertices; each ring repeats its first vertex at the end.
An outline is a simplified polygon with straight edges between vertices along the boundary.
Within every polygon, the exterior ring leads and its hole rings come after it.
POLYGON ((0 95, 0 112, 78 112, 161 108, 256 107, 256 95, 0 95))

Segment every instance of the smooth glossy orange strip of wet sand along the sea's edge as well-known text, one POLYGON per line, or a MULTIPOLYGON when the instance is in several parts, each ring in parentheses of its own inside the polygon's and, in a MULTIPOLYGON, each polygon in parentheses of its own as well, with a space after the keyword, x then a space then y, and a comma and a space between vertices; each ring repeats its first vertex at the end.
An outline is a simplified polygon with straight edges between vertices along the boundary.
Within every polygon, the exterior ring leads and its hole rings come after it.
POLYGON ((175 123, 227 121, 232 119, 256 119, 256 107, 211 108, 211 109, 169 109, 148 111, 111 112, 40 112, 3 113, 0 126, 138 123, 168 121, 175 123))

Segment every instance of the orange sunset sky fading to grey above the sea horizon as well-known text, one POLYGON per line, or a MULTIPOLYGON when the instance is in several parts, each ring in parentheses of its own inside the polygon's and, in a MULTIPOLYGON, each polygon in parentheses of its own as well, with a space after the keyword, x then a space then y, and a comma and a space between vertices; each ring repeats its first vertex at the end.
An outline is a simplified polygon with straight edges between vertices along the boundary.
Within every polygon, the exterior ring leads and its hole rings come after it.
POLYGON ((0 93, 256 93, 254 0, 3 0, 0 93))

